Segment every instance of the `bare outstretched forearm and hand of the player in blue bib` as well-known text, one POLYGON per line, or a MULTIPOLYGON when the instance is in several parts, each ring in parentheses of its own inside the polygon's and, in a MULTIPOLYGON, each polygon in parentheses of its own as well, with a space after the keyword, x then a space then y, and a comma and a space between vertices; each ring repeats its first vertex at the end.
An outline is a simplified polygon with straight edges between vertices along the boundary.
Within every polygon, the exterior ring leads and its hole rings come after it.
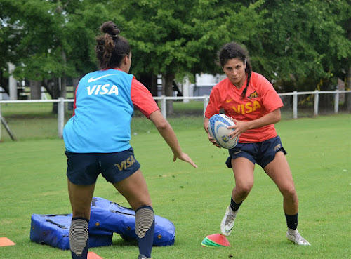
POLYGON ((194 164, 192 159, 185 154, 185 152, 182 151, 178 139, 176 137, 176 133, 174 133, 173 128, 171 125, 168 123, 166 119, 162 116, 161 112, 159 110, 152 112, 150 115, 150 121, 156 126, 157 130, 161 134, 162 138, 166 141, 169 147, 171 147, 171 150, 173 152, 173 161, 176 161, 176 159, 183 160, 192 166, 194 168, 197 168, 197 165, 194 164))

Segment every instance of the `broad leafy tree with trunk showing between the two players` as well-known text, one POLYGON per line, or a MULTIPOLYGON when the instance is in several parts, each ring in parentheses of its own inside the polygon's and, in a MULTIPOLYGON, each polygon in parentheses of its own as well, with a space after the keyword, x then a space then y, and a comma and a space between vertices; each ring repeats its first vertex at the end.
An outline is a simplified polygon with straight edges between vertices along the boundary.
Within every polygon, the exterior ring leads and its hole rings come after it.
MULTIPOLYGON (((233 39, 249 39, 263 22, 256 13, 263 1, 248 7, 217 0, 115 0, 115 3, 125 18, 117 25, 130 41, 137 59, 133 62, 133 73, 162 74, 166 96, 172 94, 177 76, 217 72, 214 61, 218 48, 233 39), (246 17, 250 19, 245 20, 246 17)), ((168 114, 172 108, 168 102, 168 114)))

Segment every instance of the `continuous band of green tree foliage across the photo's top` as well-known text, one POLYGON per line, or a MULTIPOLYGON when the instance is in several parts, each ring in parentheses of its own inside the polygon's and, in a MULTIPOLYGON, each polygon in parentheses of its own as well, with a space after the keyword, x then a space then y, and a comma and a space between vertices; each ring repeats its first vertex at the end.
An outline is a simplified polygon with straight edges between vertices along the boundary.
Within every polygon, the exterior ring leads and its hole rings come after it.
POLYGON ((313 90, 350 69, 350 13, 347 0, 0 0, 0 67, 13 62, 18 79, 80 77, 96 69, 95 35, 113 20, 137 76, 221 72, 217 51, 238 41, 257 72, 293 90, 308 79, 313 90))

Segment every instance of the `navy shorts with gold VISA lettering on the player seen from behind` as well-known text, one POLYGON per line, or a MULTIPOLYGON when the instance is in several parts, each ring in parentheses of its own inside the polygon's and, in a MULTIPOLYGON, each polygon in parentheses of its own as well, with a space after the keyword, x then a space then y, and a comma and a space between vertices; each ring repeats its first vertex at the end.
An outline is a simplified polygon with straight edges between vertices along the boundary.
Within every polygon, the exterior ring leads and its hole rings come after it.
POLYGON ((74 185, 93 185, 101 173, 107 182, 116 183, 140 168, 133 148, 115 153, 72 153, 67 156, 67 177, 74 185))

